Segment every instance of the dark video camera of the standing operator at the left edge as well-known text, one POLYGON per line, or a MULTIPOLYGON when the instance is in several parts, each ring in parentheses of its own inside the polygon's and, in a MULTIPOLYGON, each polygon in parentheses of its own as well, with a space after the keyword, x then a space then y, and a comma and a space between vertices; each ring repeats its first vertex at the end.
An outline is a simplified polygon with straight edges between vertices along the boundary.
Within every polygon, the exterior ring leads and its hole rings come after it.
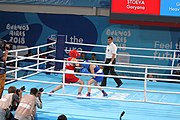
POLYGON ((0 49, 5 51, 7 50, 12 50, 13 44, 12 42, 8 42, 6 40, 0 39, 0 49))

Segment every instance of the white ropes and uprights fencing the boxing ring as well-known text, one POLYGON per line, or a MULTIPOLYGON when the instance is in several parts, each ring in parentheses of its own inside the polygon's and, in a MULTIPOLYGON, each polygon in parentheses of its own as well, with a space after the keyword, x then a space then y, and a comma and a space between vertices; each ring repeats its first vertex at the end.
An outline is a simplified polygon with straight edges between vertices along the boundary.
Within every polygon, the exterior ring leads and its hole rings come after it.
MULTIPOLYGON (((66 44, 74 44, 75 43, 66 43, 66 44)), ((66 84, 65 83, 65 77, 64 75, 66 73, 68 73, 67 71, 65 71, 65 65, 67 63, 66 60, 55 60, 55 59, 47 59, 47 58, 40 58, 39 56, 40 55, 44 55, 44 54, 48 54, 48 53, 51 53, 51 52, 55 52, 54 50, 53 51, 48 51, 48 52, 44 52, 44 53, 39 53, 39 49, 41 47, 46 47, 46 46, 49 46, 49 45, 55 45, 55 42, 54 43, 50 43, 50 44, 46 44, 46 45, 42 45, 42 46, 36 46, 36 47, 32 47, 32 48, 27 48, 27 49, 20 49, 20 50, 13 50, 13 51, 10 51, 11 53, 15 53, 15 60, 11 60, 11 61, 7 61, 7 63, 10 63, 10 62, 15 62, 15 67, 12 67, 13 70, 10 70, 10 71, 7 71, 7 74, 10 74, 10 73, 15 73, 15 76, 14 78, 9 78, 9 79, 12 79, 12 80, 19 80, 19 81, 26 81, 26 82, 41 82, 41 83, 45 83, 45 84, 62 84, 62 85, 66 85, 66 86, 82 86, 82 85, 79 85, 79 84, 66 84), (18 56, 18 52, 20 51, 26 51, 26 50, 29 50, 29 49, 36 49, 37 50, 37 55, 33 55, 33 56, 30 56, 30 57, 23 57, 23 56, 18 56), (33 65, 30 65, 30 66, 26 66, 26 67, 19 67, 18 66, 18 62, 21 61, 21 60, 25 60, 25 59, 28 59, 28 60, 33 60, 33 61, 36 61, 36 63, 34 63, 33 65), (61 62, 63 63, 63 69, 60 70, 60 71, 55 71, 54 70, 54 67, 51 67, 51 68, 47 68, 47 69, 39 69, 39 65, 40 64, 44 64, 44 63, 48 63, 48 62, 61 62), (36 68, 34 68, 36 67, 36 68), (33 73, 30 74, 30 75, 27 75, 27 76, 23 76, 23 77, 18 77, 18 71, 21 71, 21 70, 28 70, 28 71, 32 71, 33 73), (35 75, 35 74, 38 74, 38 73, 41 73, 41 72, 46 72, 46 73, 58 73, 58 74, 63 74, 63 83, 59 83, 59 82, 49 82, 49 81, 38 81, 38 80, 28 80, 27 78, 32 76, 32 75, 35 75)), ((79 45, 79 44, 78 44, 79 45)), ((105 47, 104 45, 92 45, 92 44, 82 44, 82 45, 88 45, 88 46, 94 46, 94 47, 105 47)), ((146 49, 146 48, 130 48, 130 47, 127 47, 126 49, 133 49, 133 50, 156 50, 156 51, 167 51, 167 50, 162 50, 162 49, 146 49)), ((168 50, 168 51, 171 51, 174 53, 174 57, 173 58, 168 58, 168 59, 172 59, 173 61, 174 60, 179 60, 179 58, 176 58, 175 55, 176 55, 176 52, 180 52, 178 50, 168 50)), ((86 52, 86 53, 96 53, 96 54, 99 54, 99 55, 104 55, 105 53, 102 53, 102 52, 88 52, 88 51, 80 51, 80 52, 86 52)), ((117 54, 117 56, 120 55, 120 54, 117 54)), ((123 54, 124 55, 124 54, 123 54)), ((151 58, 153 59, 154 56, 146 56, 146 55, 130 55, 131 57, 140 57, 140 58, 151 58)), ((159 58, 162 58, 162 57, 159 57, 159 58)), ((69 62, 69 61, 68 61, 69 62)), ((107 66, 106 64, 103 64, 103 61, 95 61, 96 63, 83 63, 83 64, 95 64, 95 65, 102 65, 102 66, 107 66)), ((79 64, 82 64, 82 62, 72 62, 72 63, 79 63, 79 64)), ((143 88, 144 89, 132 89, 132 88, 113 88, 113 87, 102 87, 103 89, 110 89, 110 90, 121 90, 121 91, 134 91, 134 92, 143 92, 144 93, 144 98, 143 100, 123 100, 123 101, 134 101, 134 102, 148 102, 148 103, 156 103, 156 104, 170 104, 170 105, 180 105, 180 103, 170 103, 170 102, 157 102, 157 101, 149 101, 148 98, 147 98, 147 93, 161 93, 161 94, 177 94, 179 95, 180 92, 177 90, 177 92, 173 92, 173 91, 158 91, 158 90, 148 90, 148 85, 147 85, 147 80, 156 80, 156 81, 163 81, 163 82, 177 82, 179 83, 180 80, 177 80, 177 79, 169 79, 168 76, 170 77, 179 77, 178 75, 175 75, 173 74, 172 72, 170 74, 167 74, 167 73, 151 73, 149 72, 149 70, 151 69, 155 69, 155 70, 170 70, 170 71, 174 71, 174 70, 180 70, 180 68, 176 68, 174 67, 174 62, 172 62, 172 65, 171 66, 163 66, 163 65, 149 65, 149 64, 135 64, 135 63, 118 63, 116 65, 108 65, 108 66, 115 66, 116 68, 119 68, 119 70, 117 71, 120 71, 120 72, 129 72, 129 73, 133 73, 133 74, 140 74, 141 76, 126 76, 126 75, 118 75, 118 76, 113 76, 113 75, 99 75, 99 74, 91 74, 91 75, 95 75, 95 76, 104 76, 104 77, 110 77, 110 78, 121 78, 121 79, 134 79, 134 80, 141 80, 141 81, 144 81, 144 86, 143 88), (143 71, 141 72, 138 72, 138 71, 123 71, 121 70, 121 68, 132 68, 132 69, 142 69, 143 71), (165 77, 162 77, 162 78, 148 78, 148 74, 153 74, 153 75, 160 75, 160 76, 165 76, 165 77)), ((69 74, 72 74, 72 73, 69 73, 69 74)), ((85 74, 85 73, 78 73, 78 72, 75 72, 73 74, 76 74, 76 75, 89 75, 89 74, 85 74)), ((9 81, 8 81, 9 82, 9 81)), ((7 82, 6 82, 7 83, 7 82)), ((83 85, 84 87, 92 87, 92 88, 98 88, 97 86, 88 86, 88 85, 83 85)), ((63 89, 65 89, 65 87, 63 87, 63 89)), ((49 93, 47 93, 49 94, 49 93)), ((76 96, 76 95, 73 95, 73 94, 55 94, 55 95, 65 95, 65 96, 76 96)), ((91 97, 91 98, 95 98, 95 97, 91 97)), ((111 100, 120 100, 118 98, 97 98, 97 99, 111 99, 111 100)))

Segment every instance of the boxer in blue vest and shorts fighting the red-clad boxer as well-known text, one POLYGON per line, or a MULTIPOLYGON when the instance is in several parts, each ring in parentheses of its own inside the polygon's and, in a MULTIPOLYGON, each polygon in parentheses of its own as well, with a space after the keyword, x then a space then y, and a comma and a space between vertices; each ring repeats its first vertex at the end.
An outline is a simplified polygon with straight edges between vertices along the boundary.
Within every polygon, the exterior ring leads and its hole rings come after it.
MULTIPOLYGON (((94 64, 82 64, 81 65, 83 69, 81 70, 81 73, 91 73, 91 74, 100 74, 104 75, 103 70, 98 66, 94 64)), ((95 86, 99 86, 98 82, 102 82, 103 76, 93 76, 89 81, 88 85, 91 85, 94 83, 95 86)), ((98 88, 102 93, 103 96, 107 96, 108 94, 102 90, 101 88, 98 88)), ((91 95, 91 87, 88 87, 88 93, 86 96, 91 95)))

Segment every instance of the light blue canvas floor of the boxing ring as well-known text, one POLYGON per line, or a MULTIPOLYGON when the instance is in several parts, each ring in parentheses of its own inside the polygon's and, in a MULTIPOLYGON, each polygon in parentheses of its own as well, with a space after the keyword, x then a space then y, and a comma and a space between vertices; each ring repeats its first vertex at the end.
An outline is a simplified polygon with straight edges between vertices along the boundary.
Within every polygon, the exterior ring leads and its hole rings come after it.
MULTIPOLYGON (((86 84, 90 79, 90 76, 79 77, 86 84)), ((62 75, 40 73, 27 79, 61 82, 62 75)), ((122 79, 122 81, 124 84, 121 88, 144 89, 143 81, 127 79, 122 79)), ((32 87, 43 87, 45 89, 44 92, 50 92, 56 87, 55 84, 17 81, 7 84, 5 88, 11 85, 17 88, 25 86, 26 91, 29 91, 32 87)), ((115 86, 114 80, 108 78, 108 87, 115 88, 115 86)), ((65 86, 64 90, 59 90, 56 93, 76 95, 77 89, 75 86, 65 86)), ((180 84, 148 82, 147 89, 180 92, 180 84)), ((180 118, 180 106, 124 101, 143 100, 144 94, 142 92, 110 89, 105 89, 105 91, 108 93, 108 97, 103 97, 98 89, 92 89, 92 97, 100 99, 77 99, 76 97, 44 94, 42 96, 43 109, 38 109, 37 120, 56 120, 60 114, 65 114, 68 120, 119 120, 122 111, 125 111, 122 120, 179 120, 180 118), (117 100, 108 100, 106 98, 117 100)), ((83 94, 85 95, 86 93, 87 88, 84 88, 83 94)), ((154 102, 180 103, 180 94, 147 93, 147 99, 154 102)))

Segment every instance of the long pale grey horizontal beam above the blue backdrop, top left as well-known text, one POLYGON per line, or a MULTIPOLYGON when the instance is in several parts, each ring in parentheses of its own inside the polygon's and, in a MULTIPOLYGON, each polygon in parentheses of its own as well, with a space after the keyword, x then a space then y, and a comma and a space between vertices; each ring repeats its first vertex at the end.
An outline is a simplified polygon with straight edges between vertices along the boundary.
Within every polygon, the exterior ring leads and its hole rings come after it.
POLYGON ((68 7, 55 5, 26 5, 26 4, 0 4, 1 11, 8 12, 34 12, 52 14, 76 14, 76 15, 96 15, 109 16, 108 8, 96 7, 68 7))

